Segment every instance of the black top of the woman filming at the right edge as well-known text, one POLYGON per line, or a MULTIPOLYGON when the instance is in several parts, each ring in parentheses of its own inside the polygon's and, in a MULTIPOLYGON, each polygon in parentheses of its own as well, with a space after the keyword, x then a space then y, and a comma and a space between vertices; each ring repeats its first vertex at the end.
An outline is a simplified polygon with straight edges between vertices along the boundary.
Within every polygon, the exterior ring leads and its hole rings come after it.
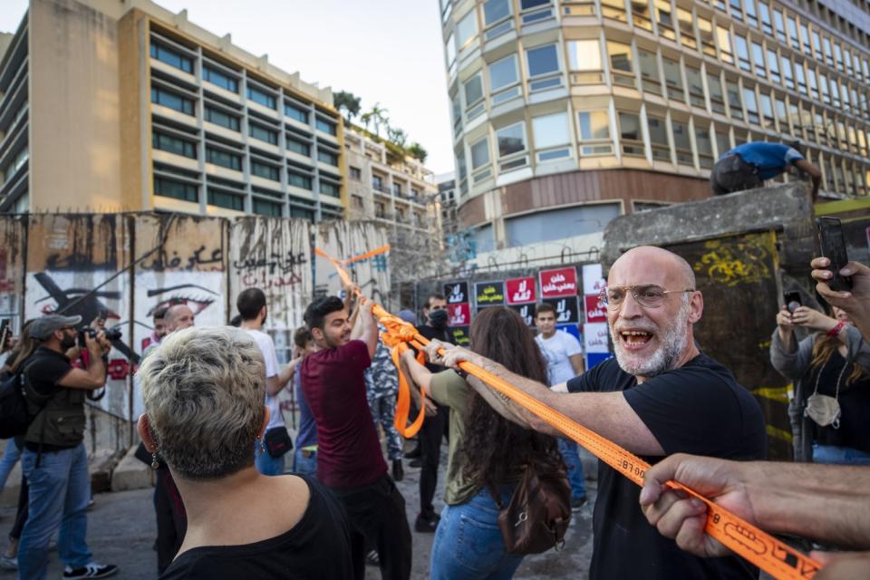
POLYGON ((816 421, 809 421, 813 428, 813 441, 820 445, 851 447, 870 453, 870 380, 862 375, 852 384, 846 384, 855 367, 850 365, 843 372, 845 365, 846 359, 835 352, 821 368, 812 367, 809 374, 809 380, 804 387, 807 397, 813 393, 818 381, 818 393, 836 397, 840 404, 840 424, 836 429, 832 425, 821 427, 816 421), (818 376, 819 372, 821 377, 818 376), (840 386, 839 393, 836 389, 837 382, 840 386))

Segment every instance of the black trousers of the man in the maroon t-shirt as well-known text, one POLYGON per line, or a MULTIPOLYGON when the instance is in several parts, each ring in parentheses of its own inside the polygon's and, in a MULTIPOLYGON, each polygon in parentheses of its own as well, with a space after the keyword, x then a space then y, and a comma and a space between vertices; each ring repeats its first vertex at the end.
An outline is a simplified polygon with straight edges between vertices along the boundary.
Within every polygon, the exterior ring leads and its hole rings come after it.
POLYGON ((383 580, 411 577, 411 528, 405 499, 389 475, 362 488, 333 489, 351 523, 353 577, 365 578, 366 540, 378 551, 383 580))

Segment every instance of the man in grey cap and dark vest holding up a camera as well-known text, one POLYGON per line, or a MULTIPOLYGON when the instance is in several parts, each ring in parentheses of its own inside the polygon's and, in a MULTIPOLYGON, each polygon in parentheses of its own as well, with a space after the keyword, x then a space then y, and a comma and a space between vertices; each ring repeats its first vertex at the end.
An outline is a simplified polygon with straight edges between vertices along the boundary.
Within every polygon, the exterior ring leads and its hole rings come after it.
POLYGON ((66 564, 63 578, 103 578, 118 572, 118 566, 95 563, 85 539, 91 481, 82 442, 84 400, 87 391, 106 383, 103 356, 110 345, 102 333, 86 334, 88 368, 74 368, 64 353, 75 345, 75 326, 81 322, 81 316, 52 314, 30 326, 30 335, 40 345, 24 370, 31 411, 38 412, 21 454, 30 485, 27 523, 18 546, 18 575, 23 580, 43 580, 48 542, 58 528, 57 551, 66 564))

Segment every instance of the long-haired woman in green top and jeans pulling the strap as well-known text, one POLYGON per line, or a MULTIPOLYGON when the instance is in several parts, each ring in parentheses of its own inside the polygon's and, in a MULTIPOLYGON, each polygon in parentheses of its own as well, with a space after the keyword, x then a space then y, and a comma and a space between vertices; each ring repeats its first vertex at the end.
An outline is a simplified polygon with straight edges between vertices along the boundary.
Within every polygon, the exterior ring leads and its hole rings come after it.
MULTIPOLYGON (((523 319, 509 308, 480 312, 471 324, 471 350, 500 362, 511 372, 546 382, 546 361, 523 319)), ((504 419, 459 374, 432 374, 410 351, 402 359, 406 375, 450 412, 450 447, 444 499, 430 577, 510 578, 523 556, 508 554, 498 528, 498 491, 510 502, 527 458, 558 458, 556 440, 504 419)), ((561 460, 561 459, 559 459, 561 460)))

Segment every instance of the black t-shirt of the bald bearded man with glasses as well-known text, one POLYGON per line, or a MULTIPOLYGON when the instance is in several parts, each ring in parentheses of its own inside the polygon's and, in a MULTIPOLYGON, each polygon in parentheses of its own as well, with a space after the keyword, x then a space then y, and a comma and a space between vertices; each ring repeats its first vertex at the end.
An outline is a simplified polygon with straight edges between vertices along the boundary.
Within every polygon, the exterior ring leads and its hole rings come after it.
MULTIPOLYGON (((571 379, 567 386, 571 392, 623 391, 625 401, 667 455, 693 453, 724 459, 764 459, 767 455, 759 403, 728 369, 706 354, 643 384, 623 372, 612 358, 571 379)), ((662 458, 643 459, 655 463, 662 458)), ((590 578, 758 578, 758 569, 738 556, 691 556, 659 534, 643 517, 640 490, 599 461, 590 578)))

